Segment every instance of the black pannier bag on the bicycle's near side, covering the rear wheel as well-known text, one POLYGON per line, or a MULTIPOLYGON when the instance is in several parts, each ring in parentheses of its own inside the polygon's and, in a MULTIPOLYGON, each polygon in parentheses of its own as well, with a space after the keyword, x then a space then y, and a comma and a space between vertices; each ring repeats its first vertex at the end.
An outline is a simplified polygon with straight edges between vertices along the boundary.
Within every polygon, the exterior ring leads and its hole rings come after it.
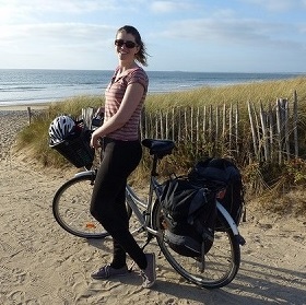
POLYGON ((164 184, 161 203, 169 247, 179 255, 202 258, 213 244, 214 195, 188 179, 174 178, 164 184))

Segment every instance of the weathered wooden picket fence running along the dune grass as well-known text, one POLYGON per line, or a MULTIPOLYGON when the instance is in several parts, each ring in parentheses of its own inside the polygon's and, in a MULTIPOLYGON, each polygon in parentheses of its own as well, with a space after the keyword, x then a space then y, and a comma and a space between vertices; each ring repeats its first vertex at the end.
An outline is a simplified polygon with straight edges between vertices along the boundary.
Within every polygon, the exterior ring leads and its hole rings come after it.
MULTIPOLYGON (((83 109, 90 124, 94 109, 83 109)), ((172 139, 193 157, 227 156, 239 164, 282 163, 298 156, 297 95, 292 105, 278 98, 275 105, 259 109, 251 102, 240 114, 239 105, 173 107, 144 112, 142 138, 172 139)))

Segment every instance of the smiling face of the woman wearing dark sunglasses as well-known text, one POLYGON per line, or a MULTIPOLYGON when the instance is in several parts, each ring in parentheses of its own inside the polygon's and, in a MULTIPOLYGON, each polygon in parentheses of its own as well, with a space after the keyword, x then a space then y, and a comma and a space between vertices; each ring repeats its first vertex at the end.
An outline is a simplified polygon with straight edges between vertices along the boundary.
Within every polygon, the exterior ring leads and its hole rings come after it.
POLYGON ((115 48, 121 61, 133 61, 134 55, 139 51, 139 46, 136 43, 134 36, 125 31, 117 34, 115 48))

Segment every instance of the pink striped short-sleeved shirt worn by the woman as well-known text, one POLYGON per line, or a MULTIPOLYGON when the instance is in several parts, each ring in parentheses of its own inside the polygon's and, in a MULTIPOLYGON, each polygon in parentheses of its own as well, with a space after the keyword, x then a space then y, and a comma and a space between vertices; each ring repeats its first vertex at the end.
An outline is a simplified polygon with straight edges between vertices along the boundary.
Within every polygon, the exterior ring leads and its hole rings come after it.
POLYGON ((105 91, 105 121, 118 112, 129 84, 140 83, 143 85, 144 92, 130 119, 121 128, 107 134, 107 137, 115 140, 134 141, 139 139, 139 122, 148 92, 149 79, 145 71, 141 67, 138 67, 115 81, 118 69, 119 68, 116 69, 111 81, 105 91))

